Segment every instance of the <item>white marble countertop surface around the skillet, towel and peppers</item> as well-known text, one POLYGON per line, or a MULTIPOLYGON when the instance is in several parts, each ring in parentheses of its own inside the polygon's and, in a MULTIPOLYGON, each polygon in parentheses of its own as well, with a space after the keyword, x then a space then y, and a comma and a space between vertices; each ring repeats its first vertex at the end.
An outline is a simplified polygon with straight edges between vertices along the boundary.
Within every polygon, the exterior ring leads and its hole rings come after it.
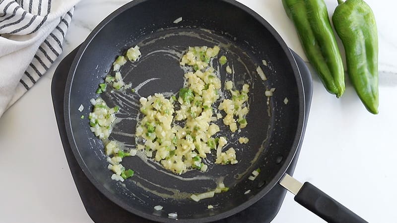
MULTIPOLYGON (((305 60, 279 0, 240 0, 262 15, 305 60)), ((66 34, 64 53, 0 119, 0 222, 88 223, 58 134, 51 78, 60 60, 109 13, 128 0, 82 0, 66 34), (89 15, 89 16, 87 16, 89 15)), ((330 14, 336 0, 326 0, 330 14)), ((294 176, 310 181, 369 222, 397 219, 397 29, 393 0, 367 0, 375 12, 380 47, 380 114, 361 105, 352 86, 337 100, 314 76, 306 137, 294 176)), ((10 64, 13 65, 13 64, 10 64)), ((275 223, 322 222, 285 197, 275 223)))

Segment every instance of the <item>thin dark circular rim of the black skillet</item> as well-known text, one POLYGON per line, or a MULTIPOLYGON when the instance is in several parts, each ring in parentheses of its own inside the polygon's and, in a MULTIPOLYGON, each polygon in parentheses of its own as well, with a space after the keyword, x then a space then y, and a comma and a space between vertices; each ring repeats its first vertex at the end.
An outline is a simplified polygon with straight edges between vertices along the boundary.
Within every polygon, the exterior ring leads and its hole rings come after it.
MULTIPOLYGON (((101 23, 99 23, 93 31, 88 35, 86 40, 81 44, 81 47, 79 48, 76 56, 73 59, 73 62, 70 66, 70 70, 68 72, 67 80, 66 80, 66 87, 65 87, 65 97, 64 97, 64 115, 65 115, 65 126, 66 126, 66 133, 67 133, 67 139, 69 141, 71 150, 73 152, 73 155, 75 159, 77 160, 78 165, 81 167, 83 170, 84 174, 87 176, 87 178, 90 180, 90 182, 102 193, 104 194, 109 200, 120 206, 121 208, 129 211, 130 213, 140 216, 142 218, 152 220, 152 221, 157 221, 157 222, 174 222, 175 219, 170 219, 170 218, 163 218, 163 217, 158 217, 155 215, 151 214, 146 214, 144 212, 141 212, 132 206, 128 205, 127 203, 123 202, 122 200, 118 199, 116 196, 111 194, 101 183, 99 183, 89 168, 85 165, 85 162, 83 161, 82 157, 80 156, 79 150, 77 148, 76 142, 73 137, 73 133, 71 131, 72 126, 70 122, 70 92, 71 92, 71 86, 73 83, 73 78, 75 71, 77 69, 77 66, 79 64, 79 61, 84 54, 85 50, 87 47, 90 45, 91 41, 96 37, 98 32, 102 30, 103 27, 105 27, 111 20, 113 20, 115 17, 117 17, 119 14, 123 13, 124 11, 130 9, 133 6, 136 6, 140 3, 146 2, 149 0, 133 0, 131 2, 126 3, 125 5, 121 6, 114 12, 112 12, 110 15, 108 15, 101 23)), ((285 158, 285 161, 281 167, 279 167, 277 173, 275 174, 275 177, 267 183, 267 185, 260 190, 254 197, 249 199, 248 201, 241 203, 240 205, 234 207, 233 209, 222 212, 218 215, 214 216, 208 216, 200 219, 178 219, 178 221, 182 222, 187 222, 187 223, 194 223, 194 222, 212 222, 212 221, 217 221, 221 220, 224 218, 227 218, 231 215, 234 215, 236 213, 239 213, 243 211, 244 209, 248 208, 258 200, 260 200, 265 194, 267 194, 281 179, 281 177, 284 175, 285 171, 287 168, 290 166, 293 158, 295 157, 296 151, 298 149, 298 145, 301 143, 302 140, 302 135, 303 135, 303 127, 304 127, 304 119, 305 119, 305 110, 307 109, 305 106, 305 93, 303 90, 303 82, 302 78, 300 76, 299 68, 296 64, 295 58, 292 56, 291 51, 287 47, 286 43, 283 41, 281 36, 275 31, 275 29, 258 13, 256 13, 254 10, 249 8, 248 6, 245 6, 244 4, 236 1, 236 0, 219 0, 223 1, 225 3, 231 4, 235 7, 238 7, 239 9, 243 10, 250 16, 252 16, 254 19, 256 19, 258 22, 260 22, 275 38, 275 40, 278 42, 278 44, 281 46, 283 53, 285 56, 287 56, 290 66, 294 72, 294 76, 296 79, 296 84, 297 84, 297 89, 298 89, 298 99, 299 99, 299 116, 298 116, 298 124, 296 128, 296 133, 294 136, 293 140, 293 145, 290 148, 290 152, 288 156, 285 158)))

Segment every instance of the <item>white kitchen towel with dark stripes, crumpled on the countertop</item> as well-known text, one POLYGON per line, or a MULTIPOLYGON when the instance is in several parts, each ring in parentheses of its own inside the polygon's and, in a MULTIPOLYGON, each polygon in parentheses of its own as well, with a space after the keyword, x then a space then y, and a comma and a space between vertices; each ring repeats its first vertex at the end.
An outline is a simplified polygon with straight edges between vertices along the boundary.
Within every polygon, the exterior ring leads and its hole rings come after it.
POLYGON ((0 0, 0 116, 62 53, 79 0, 0 0))

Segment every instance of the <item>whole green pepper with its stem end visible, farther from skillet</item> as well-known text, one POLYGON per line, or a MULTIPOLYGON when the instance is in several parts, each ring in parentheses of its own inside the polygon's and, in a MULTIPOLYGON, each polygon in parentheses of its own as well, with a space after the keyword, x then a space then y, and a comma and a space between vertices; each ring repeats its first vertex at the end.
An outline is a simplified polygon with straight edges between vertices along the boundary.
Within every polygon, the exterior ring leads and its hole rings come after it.
POLYGON ((378 31, 375 16, 363 0, 338 0, 333 26, 346 51, 347 72, 357 95, 378 113, 378 31))

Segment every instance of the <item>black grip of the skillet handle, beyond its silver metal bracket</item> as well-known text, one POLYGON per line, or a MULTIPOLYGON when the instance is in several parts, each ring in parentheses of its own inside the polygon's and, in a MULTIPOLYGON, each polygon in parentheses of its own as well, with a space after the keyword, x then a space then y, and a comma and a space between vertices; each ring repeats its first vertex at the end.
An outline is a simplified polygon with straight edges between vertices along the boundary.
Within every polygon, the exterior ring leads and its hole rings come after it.
POLYGON ((367 223, 309 182, 303 184, 294 200, 330 223, 367 223))

